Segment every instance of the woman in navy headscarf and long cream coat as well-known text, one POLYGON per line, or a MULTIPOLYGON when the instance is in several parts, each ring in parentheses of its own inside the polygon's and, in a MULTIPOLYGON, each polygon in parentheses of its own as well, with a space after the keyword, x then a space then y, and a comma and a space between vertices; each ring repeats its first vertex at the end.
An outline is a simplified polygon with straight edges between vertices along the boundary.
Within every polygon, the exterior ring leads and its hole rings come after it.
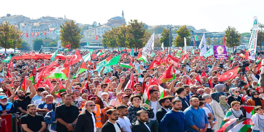
POLYGON ((219 97, 221 96, 220 92, 214 92, 211 93, 212 102, 210 103, 210 106, 213 110, 214 117, 217 120, 217 123, 214 125, 214 131, 219 130, 220 125, 225 117, 225 114, 223 113, 222 108, 219 105, 219 97))

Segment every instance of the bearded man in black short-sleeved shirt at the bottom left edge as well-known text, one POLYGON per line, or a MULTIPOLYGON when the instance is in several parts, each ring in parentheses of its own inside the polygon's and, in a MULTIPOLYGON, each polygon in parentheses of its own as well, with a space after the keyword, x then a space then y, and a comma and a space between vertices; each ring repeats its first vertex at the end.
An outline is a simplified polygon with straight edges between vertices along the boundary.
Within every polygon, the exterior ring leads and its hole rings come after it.
POLYGON ((28 114, 21 117, 21 126, 24 131, 44 131, 46 123, 43 116, 36 114, 36 106, 29 104, 27 111, 28 114))

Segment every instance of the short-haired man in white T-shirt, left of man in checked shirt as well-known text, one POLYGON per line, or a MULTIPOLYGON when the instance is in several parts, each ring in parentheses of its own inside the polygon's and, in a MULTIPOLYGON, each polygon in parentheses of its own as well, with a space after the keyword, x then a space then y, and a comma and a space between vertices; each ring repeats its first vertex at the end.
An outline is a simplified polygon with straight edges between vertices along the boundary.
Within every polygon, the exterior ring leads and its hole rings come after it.
POLYGON ((121 131, 131 132, 132 125, 126 117, 126 115, 128 115, 128 107, 120 104, 116 107, 116 110, 118 110, 118 113, 120 114, 116 122, 120 125, 121 131))

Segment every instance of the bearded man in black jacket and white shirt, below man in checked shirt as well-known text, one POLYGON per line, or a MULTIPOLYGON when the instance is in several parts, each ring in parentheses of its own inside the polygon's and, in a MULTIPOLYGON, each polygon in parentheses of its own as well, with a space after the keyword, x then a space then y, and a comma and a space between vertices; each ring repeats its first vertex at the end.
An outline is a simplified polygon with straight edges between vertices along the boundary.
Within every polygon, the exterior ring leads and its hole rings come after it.
POLYGON ((148 113, 145 110, 139 110, 137 112, 137 121, 132 127, 133 132, 151 132, 149 126, 146 124, 149 120, 148 113))

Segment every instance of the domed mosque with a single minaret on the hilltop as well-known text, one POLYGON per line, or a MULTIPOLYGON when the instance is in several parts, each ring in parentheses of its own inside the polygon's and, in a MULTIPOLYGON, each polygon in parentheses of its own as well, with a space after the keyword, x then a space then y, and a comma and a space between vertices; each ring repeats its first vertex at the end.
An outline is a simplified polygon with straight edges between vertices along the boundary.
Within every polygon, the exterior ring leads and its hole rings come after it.
POLYGON ((121 16, 112 17, 108 20, 107 24, 104 24, 104 25, 107 25, 110 27, 118 27, 118 26, 121 26, 123 24, 126 25, 126 19, 124 17, 124 12, 122 10, 122 17, 121 16))

